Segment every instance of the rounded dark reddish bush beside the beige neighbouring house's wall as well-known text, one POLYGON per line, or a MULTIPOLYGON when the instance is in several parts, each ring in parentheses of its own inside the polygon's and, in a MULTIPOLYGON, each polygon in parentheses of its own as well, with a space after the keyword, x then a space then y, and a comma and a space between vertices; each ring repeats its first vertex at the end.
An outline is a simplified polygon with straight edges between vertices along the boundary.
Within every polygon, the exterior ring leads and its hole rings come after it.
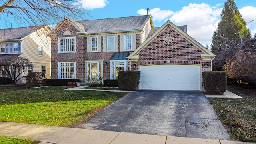
POLYGON ((46 74, 42 72, 29 72, 26 76, 26 84, 30 86, 39 86, 40 84, 42 84, 42 80, 46 78, 46 74))

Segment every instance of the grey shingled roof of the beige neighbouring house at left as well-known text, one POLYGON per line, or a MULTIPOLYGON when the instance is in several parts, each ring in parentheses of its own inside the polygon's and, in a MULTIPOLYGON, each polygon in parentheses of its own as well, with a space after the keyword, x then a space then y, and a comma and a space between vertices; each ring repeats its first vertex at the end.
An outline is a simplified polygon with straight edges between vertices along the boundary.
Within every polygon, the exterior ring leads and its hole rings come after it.
POLYGON ((0 29, 0 41, 20 40, 43 26, 0 29))

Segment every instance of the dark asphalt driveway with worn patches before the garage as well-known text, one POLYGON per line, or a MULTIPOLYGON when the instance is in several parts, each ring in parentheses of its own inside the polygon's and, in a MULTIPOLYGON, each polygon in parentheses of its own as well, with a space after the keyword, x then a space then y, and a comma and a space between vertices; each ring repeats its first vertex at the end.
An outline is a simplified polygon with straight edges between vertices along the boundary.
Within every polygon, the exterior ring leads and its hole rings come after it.
POLYGON ((80 128, 230 140, 202 92, 131 92, 80 125, 80 128))

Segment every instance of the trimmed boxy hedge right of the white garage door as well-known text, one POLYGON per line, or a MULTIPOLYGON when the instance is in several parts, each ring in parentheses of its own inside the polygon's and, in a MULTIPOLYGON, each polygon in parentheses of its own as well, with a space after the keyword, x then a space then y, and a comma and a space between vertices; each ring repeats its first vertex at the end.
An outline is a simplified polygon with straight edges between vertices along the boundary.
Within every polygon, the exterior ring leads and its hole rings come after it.
POLYGON ((204 89, 209 94, 223 94, 227 89, 227 73, 224 71, 203 72, 204 89))

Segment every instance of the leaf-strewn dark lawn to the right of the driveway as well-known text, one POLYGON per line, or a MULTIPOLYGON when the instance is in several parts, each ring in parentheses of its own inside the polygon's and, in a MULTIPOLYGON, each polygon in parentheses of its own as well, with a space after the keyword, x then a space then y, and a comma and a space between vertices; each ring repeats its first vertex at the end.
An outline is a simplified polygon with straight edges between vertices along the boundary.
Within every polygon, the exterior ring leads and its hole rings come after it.
POLYGON ((208 98, 233 140, 256 142, 256 90, 228 86, 244 99, 208 98))

